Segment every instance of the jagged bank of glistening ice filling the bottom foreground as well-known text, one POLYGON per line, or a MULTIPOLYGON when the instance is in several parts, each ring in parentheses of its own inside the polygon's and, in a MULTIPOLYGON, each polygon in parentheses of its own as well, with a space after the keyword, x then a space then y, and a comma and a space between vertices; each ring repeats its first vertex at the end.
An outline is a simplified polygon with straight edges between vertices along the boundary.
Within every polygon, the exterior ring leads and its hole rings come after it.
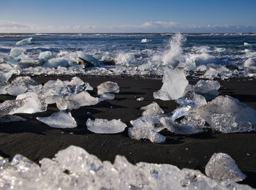
POLYGON ((16 155, 11 162, 0 156, 1 189, 252 189, 246 185, 225 185, 197 170, 180 170, 170 164, 130 164, 116 156, 113 164, 100 161, 83 148, 69 146, 41 166, 16 155))

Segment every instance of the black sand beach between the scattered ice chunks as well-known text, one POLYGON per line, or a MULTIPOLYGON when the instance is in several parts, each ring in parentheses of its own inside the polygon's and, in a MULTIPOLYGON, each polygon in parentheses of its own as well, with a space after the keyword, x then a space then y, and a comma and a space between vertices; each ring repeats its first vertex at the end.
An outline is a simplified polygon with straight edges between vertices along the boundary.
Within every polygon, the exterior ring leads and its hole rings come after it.
MULTIPOLYGON (((99 77, 78 76, 89 82, 94 88, 105 81, 118 83, 121 91, 115 99, 100 102, 89 107, 72 110, 72 116, 78 122, 75 129, 53 129, 36 120, 37 116, 49 116, 58 111, 55 104, 48 105, 44 113, 18 114, 28 121, 0 123, 0 156, 12 159, 19 153, 32 161, 53 158, 59 150, 69 145, 77 145, 102 161, 113 161, 117 154, 126 156, 132 163, 146 161, 157 164, 173 164, 179 168, 190 168, 204 172, 206 163, 214 153, 227 153, 236 160, 236 164, 247 178, 241 182, 256 188, 256 132, 221 134, 208 131, 195 135, 176 135, 167 131, 167 140, 163 144, 154 144, 149 140, 131 140, 127 129, 120 134, 94 134, 86 129, 87 118, 121 118, 130 126, 129 121, 140 117, 140 107, 154 101, 153 92, 162 86, 161 80, 142 79, 140 77, 99 77), (143 101, 136 98, 143 96, 143 101)), ((33 77, 39 83, 48 80, 70 80, 70 76, 33 77)), ((189 79, 189 83, 196 80, 189 79)), ((219 94, 227 94, 256 109, 256 80, 236 78, 219 81, 219 94)), ((91 95, 97 96, 96 91, 91 95)), ((15 99, 14 96, 0 95, 0 102, 15 99)), ((155 100, 169 113, 177 104, 173 101, 155 100)))

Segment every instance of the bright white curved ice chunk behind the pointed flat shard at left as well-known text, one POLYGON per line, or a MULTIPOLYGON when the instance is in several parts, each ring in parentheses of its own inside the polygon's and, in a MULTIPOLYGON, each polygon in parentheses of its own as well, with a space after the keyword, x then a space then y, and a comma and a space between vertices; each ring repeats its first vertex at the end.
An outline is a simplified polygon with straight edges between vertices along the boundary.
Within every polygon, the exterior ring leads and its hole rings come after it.
POLYGON ((10 115, 15 113, 38 113, 47 110, 47 104, 42 102, 34 92, 26 92, 24 94, 19 94, 16 97, 16 100, 23 99, 25 99, 25 103, 21 106, 13 107, 10 111, 10 115))

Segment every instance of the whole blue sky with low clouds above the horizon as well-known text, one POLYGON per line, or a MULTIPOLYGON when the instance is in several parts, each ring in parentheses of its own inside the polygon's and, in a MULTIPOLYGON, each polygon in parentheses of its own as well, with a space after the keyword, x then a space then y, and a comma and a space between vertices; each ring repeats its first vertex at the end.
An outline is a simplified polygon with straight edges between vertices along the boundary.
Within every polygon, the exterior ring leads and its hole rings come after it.
POLYGON ((0 32, 249 32, 255 0, 0 0, 0 32))

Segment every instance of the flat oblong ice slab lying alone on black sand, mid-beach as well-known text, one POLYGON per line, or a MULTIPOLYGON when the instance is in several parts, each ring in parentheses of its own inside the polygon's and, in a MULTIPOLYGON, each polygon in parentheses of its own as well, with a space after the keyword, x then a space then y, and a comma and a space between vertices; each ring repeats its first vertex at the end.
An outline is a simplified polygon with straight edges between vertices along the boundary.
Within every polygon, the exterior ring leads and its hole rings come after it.
POLYGON ((94 133, 100 134, 115 134, 118 132, 124 132, 127 125, 121 122, 120 119, 113 119, 108 121, 107 119, 96 118, 92 121, 90 118, 86 121, 87 129, 94 133))

